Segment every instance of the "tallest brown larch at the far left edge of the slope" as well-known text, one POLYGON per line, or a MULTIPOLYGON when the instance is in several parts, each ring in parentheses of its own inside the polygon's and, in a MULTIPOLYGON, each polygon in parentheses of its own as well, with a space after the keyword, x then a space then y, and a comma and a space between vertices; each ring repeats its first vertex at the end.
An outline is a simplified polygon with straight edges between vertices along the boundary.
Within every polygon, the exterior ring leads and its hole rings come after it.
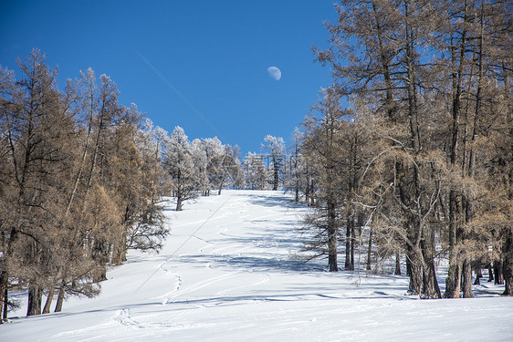
POLYGON ((64 147, 73 140, 74 127, 57 89, 57 71, 47 67, 44 56, 33 50, 26 63, 18 61, 18 66, 24 78, 15 82, 14 75, 6 72, 2 85, 2 138, 8 168, 2 175, 2 196, 10 204, 2 225, 0 292, 5 295, 9 276, 26 283, 27 316, 32 316, 41 313, 42 292, 60 263, 53 253, 62 214, 58 193, 67 185, 73 153, 64 147))

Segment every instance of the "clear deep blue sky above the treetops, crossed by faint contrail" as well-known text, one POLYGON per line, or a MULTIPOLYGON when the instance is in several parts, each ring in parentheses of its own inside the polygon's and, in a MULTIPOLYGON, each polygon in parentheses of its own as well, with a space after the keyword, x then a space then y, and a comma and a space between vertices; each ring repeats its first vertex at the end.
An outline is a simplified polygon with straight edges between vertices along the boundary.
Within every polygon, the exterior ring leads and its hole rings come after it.
POLYGON ((333 3, 0 0, 0 65, 16 70, 16 57, 37 47, 58 66, 61 85, 92 67, 116 82, 121 104, 137 104, 155 125, 182 126, 190 140, 217 136, 246 154, 267 134, 289 140, 330 85, 311 46, 327 46, 333 3))

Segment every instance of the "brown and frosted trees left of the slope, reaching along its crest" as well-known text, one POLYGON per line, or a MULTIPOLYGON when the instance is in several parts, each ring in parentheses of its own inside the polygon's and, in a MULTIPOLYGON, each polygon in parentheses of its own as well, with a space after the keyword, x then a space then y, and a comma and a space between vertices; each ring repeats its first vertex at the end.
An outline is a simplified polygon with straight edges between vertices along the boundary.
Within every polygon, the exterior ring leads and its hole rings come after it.
POLYGON ((40 51, 17 65, 21 79, 0 68, 0 322, 13 289, 28 288, 27 316, 50 312, 56 295, 58 312, 66 295, 98 295, 129 249, 158 252, 166 197, 181 211, 212 190, 273 186, 262 155, 241 162, 217 138, 168 134, 121 105, 105 75, 89 68, 59 89, 40 51))

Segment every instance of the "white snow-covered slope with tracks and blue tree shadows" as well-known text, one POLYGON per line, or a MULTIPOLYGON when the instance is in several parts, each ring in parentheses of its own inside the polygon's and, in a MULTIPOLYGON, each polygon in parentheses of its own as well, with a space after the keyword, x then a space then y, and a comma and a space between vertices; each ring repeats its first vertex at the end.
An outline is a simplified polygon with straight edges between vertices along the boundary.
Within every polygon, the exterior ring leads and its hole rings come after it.
POLYGON ((130 253, 101 295, 12 319, 0 340, 513 341, 513 298, 499 287, 482 282, 475 299, 420 300, 405 295, 405 276, 292 260, 307 209, 282 192, 226 191, 172 208, 160 254, 130 253))

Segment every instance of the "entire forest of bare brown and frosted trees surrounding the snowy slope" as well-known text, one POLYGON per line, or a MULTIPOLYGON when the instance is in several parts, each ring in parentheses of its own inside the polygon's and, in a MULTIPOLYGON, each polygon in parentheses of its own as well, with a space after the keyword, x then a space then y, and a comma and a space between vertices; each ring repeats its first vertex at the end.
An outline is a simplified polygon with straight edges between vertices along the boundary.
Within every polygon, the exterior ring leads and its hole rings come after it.
POLYGON ((313 48, 333 84, 288 146, 267 136, 242 160, 217 138, 153 126, 90 68, 64 88, 36 49, 19 78, 1 68, 1 317, 13 289, 28 289, 27 316, 55 295, 55 311, 67 295, 98 295, 129 249, 162 247, 166 197, 181 211, 225 188, 294 192, 312 208, 305 252, 331 272, 341 251, 346 270, 393 261, 400 275, 403 261, 411 294, 455 298, 472 297, 473 272, 479 282, 488 268, 513 295, 511 4, 336 8, 329 47, 313 48))

